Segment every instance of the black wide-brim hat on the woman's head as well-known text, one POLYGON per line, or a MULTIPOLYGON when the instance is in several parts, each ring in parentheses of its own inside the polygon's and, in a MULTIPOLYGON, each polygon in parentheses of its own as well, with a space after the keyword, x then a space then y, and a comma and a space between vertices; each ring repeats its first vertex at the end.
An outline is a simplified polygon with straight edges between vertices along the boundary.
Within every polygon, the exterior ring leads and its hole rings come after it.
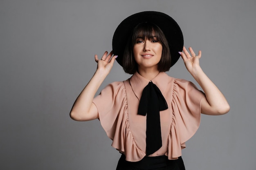
POLYGON ((183 35, 180 26, 173 18, 162 12, 144 11, 130 15, 123 20, 113 35, 112 50, 114 55, 118 55, 117 62, 123 66, 122 59, 128 39, 131 37, 132 31, 140 23, 150 22, 157 25, 163 32, 168 41, 171 53, 171 66, 173 66, 180 58, 179 51, 183 49, 183 35))

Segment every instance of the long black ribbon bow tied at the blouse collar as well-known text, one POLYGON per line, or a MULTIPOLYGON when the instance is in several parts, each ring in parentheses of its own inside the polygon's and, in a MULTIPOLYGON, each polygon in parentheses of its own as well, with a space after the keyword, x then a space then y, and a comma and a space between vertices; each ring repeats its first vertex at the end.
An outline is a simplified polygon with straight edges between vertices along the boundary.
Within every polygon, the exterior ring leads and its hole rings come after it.
POLYGON ((139 115, 147 115, 146 125, 146 155, 151 155, 162 147, 159 111, 168 108, 159 88, 149 82, 143 89, 139 102, 139 115))

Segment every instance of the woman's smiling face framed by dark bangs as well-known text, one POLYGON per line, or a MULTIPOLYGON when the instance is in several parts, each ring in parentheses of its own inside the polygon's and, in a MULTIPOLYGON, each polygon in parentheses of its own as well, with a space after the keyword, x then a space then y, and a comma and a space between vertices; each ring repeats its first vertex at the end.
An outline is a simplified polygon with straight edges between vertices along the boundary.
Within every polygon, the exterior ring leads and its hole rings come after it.
POLYGON ((153 69, 157 71, 157 64, 162 56, 162 44, 155 37, 137 38, 133 46, 133 54, 138 69, 153 69))

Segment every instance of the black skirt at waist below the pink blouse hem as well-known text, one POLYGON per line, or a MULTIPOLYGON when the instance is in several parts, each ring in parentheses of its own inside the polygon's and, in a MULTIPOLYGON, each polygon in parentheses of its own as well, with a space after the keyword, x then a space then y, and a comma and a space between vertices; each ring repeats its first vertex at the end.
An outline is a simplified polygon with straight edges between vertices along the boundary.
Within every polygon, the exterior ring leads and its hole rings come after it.
POLYGON ((138 162, 125 160, 122 154, 116 170, 185 170, 182 157, 176 160, 168 160, 165 155, 158 157, 144 157, 138 162))

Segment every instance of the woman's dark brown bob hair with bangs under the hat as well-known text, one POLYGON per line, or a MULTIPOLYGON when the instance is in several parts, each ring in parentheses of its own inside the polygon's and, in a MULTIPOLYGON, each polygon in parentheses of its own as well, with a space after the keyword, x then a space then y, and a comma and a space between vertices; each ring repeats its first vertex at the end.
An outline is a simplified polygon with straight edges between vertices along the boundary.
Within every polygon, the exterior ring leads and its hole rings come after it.
POLYGON ((144 37, 148 40, 152 37, 157 39, 157 41, 162 45, 162 57, 157 64, 157 69, 160 72, 169 71, 172 65, 168 41, 166 40, 163 31, 157 25, 150 22, 138 24, 133 29, 132 35, 130 36, 124 50, 124 57, 122 60, 124 71, 129 74, 134 74, 138 71, 138 64, 136 63, 133 55, 133 47, 139 37, 144 37))

